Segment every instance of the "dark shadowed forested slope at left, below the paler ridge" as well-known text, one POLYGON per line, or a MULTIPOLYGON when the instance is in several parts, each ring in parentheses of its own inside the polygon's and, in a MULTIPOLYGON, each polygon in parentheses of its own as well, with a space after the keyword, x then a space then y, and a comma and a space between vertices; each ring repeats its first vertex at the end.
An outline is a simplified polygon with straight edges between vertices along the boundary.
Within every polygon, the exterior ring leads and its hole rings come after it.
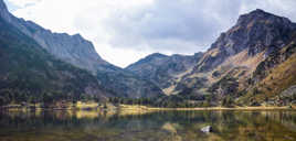
POLYGON ((54 58, 0 18, 0 101, 42 101, 113 96, 91 73, 54 58))

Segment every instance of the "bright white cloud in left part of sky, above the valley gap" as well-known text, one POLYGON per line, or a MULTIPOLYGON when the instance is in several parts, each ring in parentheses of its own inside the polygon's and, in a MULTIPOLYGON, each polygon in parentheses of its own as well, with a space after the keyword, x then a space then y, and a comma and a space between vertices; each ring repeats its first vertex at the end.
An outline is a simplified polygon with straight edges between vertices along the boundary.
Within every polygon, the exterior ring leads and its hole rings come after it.
POLYGON ((13 14, 32 20, 53 32, 81 33, 94 42, 99 55, 108 62, 127 66, 152 51, 134 51, 113 47, 108 42, 112 33, 102 25, 114 11, 127 11, 151 4, 154 0, 8 0, 22 7, 13 14), (24 7, 31 4, 30 7, 24 7))

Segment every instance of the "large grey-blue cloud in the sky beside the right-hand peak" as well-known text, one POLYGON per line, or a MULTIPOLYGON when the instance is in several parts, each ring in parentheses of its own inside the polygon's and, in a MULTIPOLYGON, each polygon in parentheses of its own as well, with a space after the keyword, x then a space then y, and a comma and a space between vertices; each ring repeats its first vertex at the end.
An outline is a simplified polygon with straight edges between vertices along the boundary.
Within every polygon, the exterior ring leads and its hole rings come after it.
POLYGON ((294 18, 295 10, 283 6, 269 0, 156 0, 148 7, 114 11, 104 26, 112 33, 113 47, 192 54, 204 51, 234 25, 240 12, 261 8, 294 18))

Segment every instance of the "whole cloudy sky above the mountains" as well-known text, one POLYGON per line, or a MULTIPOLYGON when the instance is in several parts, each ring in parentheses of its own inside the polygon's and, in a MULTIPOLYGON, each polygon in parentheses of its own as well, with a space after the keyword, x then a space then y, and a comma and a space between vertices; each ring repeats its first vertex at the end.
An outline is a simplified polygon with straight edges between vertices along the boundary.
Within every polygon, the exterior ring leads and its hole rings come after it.
POLYGON ((207 51, 240 14, 262 9, 296 21, 296 0, 4 0, 18 18, 80 33, 120 67, 151 54, 207 51))

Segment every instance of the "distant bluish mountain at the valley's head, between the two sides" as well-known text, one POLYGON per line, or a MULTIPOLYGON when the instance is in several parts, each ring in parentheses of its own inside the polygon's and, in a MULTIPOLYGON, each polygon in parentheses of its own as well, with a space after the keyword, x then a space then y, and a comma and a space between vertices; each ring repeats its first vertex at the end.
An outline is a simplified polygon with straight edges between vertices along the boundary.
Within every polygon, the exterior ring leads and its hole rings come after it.
POLYGON ((126 69, 136 73, 142 78, 150 79, 162 89, 166 89, 173 86, 187 72, 190 73, 201 56, 202 53, 197 53, 192 56, 177 54, 167 56, 155 53, 129 65, 126 69))

